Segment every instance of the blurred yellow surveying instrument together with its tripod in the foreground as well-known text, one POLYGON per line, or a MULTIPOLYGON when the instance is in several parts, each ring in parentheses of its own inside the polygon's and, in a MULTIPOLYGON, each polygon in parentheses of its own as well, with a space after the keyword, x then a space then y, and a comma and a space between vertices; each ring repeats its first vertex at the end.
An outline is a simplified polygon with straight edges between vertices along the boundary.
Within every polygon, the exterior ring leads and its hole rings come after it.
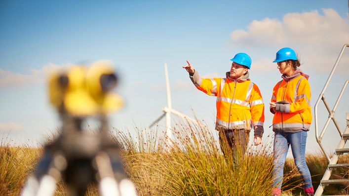
POLYGON ((137 195, 124 173, 120 148, 109 135, 106 115, 122 106, 122 99, 111 93, 117 80, 107 61, 51 73, 49 100, 62 120, 62 131, 45 146, 22 196, 53 196, 60 180, 69 196, 83 196, 91 183, 98 184, 101 196, 137 195), (99 119, 98 133, 83 131, 82 122, 88 117, 99 119))

